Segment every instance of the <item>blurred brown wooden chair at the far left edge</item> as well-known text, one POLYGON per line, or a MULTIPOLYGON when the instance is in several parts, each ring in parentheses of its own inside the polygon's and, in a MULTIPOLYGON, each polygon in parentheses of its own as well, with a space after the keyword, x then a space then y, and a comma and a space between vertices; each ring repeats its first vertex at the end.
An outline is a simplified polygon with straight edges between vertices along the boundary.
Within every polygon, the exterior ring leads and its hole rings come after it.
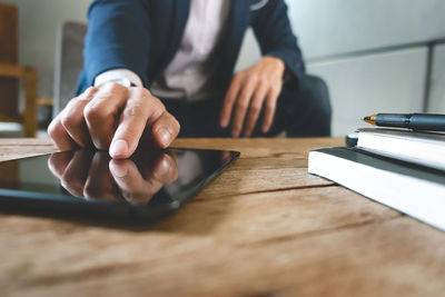
POLYGON ((0 3, 0 121, 21 122, 24 137, 37 130, 37 78, 32 67, 18 65, 17 8, 0 3), (24 111, 19 112, 19 83, 23 81, 24 111))

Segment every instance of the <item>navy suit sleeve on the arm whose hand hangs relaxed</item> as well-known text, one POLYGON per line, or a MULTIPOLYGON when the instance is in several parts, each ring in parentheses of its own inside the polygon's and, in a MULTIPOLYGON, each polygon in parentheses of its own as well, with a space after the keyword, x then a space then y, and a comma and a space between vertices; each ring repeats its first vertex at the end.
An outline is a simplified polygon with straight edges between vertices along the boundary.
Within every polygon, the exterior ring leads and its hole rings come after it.
POLYGON ((287 16, 287 6, 283 0, 269 0, 254 12, 253 28, 263 56, 281 59, 287 71, 300 79, 305 72, 301 51, 293 33, 287 16))

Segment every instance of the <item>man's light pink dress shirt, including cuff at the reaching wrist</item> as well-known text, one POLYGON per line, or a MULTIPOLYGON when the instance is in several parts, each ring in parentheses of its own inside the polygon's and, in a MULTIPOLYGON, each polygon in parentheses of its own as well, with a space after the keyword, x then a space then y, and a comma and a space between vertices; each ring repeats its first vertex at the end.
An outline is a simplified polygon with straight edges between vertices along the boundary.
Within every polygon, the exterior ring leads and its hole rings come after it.
MULTIPOLYGON (((160 79, 150 83, 151 92, 162 98, 199 100, 206 97, 206 82, 216 71, 209 59, 224 33, 228 18, 228 0, 191 0, 190 12, 179 50, 160 79)), ((216 61, 215 61, 216 62, 216 61)), ((140 78, 128 69, 112 69, 99 75, 95 86, 127 78, 141 87, 140 78)))

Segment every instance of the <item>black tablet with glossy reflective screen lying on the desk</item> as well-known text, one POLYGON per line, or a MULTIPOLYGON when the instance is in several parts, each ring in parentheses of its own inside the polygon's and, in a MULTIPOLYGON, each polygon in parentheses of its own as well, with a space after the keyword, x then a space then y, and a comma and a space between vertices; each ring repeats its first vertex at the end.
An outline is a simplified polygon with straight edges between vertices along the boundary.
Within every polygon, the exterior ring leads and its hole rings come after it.
POLYGON ((239 157, 138 149, 130 159, 77 150, 0 162, 0 211, 97 222, 157 222, 239 157))

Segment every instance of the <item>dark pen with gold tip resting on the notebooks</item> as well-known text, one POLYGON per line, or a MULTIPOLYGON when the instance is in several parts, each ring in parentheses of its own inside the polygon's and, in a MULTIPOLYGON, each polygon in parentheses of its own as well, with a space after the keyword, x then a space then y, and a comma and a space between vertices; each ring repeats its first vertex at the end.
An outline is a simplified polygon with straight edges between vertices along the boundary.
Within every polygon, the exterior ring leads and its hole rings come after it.
POLYGON ((363 120, 382 127, 445 131, 445 115, 437 113, 376 113, 365 117, 363 120))

